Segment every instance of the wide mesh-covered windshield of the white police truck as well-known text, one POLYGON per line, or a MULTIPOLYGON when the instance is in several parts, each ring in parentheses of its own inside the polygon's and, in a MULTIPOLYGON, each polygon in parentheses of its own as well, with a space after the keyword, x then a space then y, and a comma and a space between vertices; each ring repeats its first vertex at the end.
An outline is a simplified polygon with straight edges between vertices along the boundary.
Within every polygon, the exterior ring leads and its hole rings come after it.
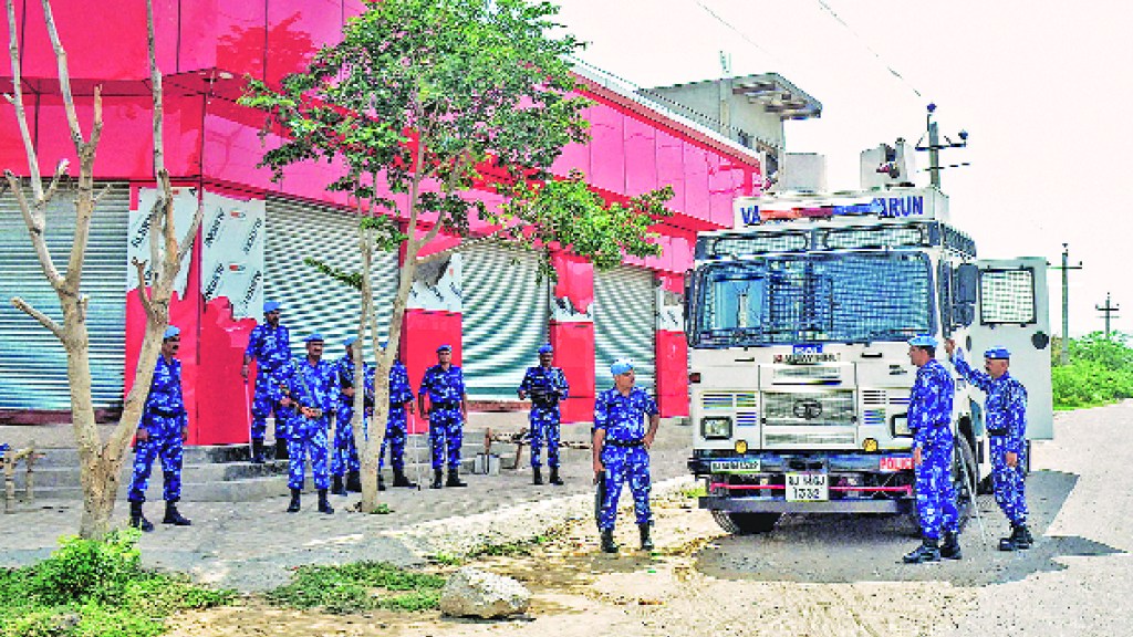
POLYGON ((906 340, 932 332, 928 256, 855 252, 701 265, 693 347, 906 340))

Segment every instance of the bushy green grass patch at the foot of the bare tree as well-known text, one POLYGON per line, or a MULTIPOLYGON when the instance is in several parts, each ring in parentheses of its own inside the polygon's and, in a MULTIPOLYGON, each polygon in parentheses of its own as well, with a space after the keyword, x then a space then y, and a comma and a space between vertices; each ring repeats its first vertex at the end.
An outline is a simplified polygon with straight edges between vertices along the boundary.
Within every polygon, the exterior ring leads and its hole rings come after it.
POLYGON ((0 637, 153 637, 178 611, 231 603, 232 591, 142 569, 139 532, 66 537, 46 560, 0 569, 0 637))

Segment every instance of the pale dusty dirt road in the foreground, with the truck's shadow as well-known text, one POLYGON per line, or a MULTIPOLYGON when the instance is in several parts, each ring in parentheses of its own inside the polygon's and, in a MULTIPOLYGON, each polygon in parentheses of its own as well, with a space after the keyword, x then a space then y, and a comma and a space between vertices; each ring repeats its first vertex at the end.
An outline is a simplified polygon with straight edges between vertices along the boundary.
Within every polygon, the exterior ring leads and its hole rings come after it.
POLYGON ((1133 493, 1115 489, 1133 464, 1133 404, 1059 415, 1056 440, 1037 444, 1029 482, 1038 544, 1000 553, 1005 532, 990 499, 963 536, 964 560, 908 566, 915 544, 900 520, 791 516, 760 536, 723 535, 695 501, 655 502, 658 549, 597 551, 593 523, 571 523, 533 554, 474 566, 533 592, 508 621, 437 612, 333 617, 242 605, 191 613, 172 635, 1128 635, 1133 609, 1133 493), (986 538, 986 540, 985 540, 986 538))

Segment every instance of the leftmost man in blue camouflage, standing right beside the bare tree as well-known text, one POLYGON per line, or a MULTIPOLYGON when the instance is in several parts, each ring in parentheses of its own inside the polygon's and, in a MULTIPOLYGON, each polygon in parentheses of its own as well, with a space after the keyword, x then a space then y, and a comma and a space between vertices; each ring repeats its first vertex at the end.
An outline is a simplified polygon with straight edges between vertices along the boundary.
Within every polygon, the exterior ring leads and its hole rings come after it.
POLYGON ((145 399, 142 422, 138 423, 137 455, 134 457, 134 476, 130 478, 130 526, 153 530, 153 525, 142 515, 150 469, 155 458, 161 458, 165 498, 164 524, 189 526, 191 523, 177 510, 181 499, 181 445, 189 435, 189 416, 181 396, 181 362, 176 358, 181 348, 181 330, 170 325, 161 341, 161 355, 153 371, 150 394, 145 399))

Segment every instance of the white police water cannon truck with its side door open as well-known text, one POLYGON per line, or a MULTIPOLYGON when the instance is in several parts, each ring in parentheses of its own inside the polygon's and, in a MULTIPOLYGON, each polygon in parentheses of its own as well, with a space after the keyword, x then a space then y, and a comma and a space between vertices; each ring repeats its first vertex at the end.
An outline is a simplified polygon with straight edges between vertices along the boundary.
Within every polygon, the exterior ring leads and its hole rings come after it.
MULTIPOLYGON (((917 375, 931 334, 979 362, 1012 351, 1028 438, 1049 439, 1046 261, 979 260, 935 187, 740 198, 735 227, 699 235, 687 277, 690 470, 731 533, 784 513, 914 513, 917 375)), ((956 380, 953 479, 963 518, 990 473, 982 394, 956 380)))

